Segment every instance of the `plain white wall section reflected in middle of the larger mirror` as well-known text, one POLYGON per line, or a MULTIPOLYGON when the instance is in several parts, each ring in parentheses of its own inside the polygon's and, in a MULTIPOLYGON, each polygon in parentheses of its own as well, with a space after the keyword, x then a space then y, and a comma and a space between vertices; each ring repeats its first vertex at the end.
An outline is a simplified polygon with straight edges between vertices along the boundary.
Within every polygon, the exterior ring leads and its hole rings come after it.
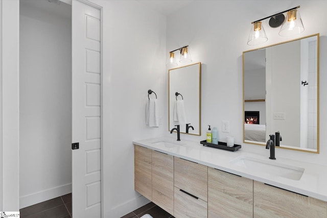
MULTIPOLYGON (((300 147, 300 41, 267 47, 267 78, 272 87, 267 89, 271 114, 284 113, 285 119, 267 120, 271 131, 283 136, 281 144, 300 147)), ((270 134, 270 133, 269 133, 270 134)))

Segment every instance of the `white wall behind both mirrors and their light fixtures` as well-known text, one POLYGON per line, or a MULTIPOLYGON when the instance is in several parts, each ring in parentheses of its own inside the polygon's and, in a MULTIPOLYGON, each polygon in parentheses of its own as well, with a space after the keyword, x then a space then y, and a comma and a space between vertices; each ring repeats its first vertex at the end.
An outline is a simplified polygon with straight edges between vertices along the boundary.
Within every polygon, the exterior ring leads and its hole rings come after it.
MULTIPOLYGON (((205 138, 207 125, 220 128, 221 140, 235 136, 242 149, 269 156, 264 147, 243 144, 242 128, 242 52, 261 46, 320 33, 320 135, 327 131, 327 1, 194 1, 189 7, 167 18, 167 49, 169 51, 188 44, 194 62, 202 62, 201 125, 202 136, 181 135, 181 140, 200 141, 205 138), (268 41, 249 46, 247 39, 251 21, 300 5, 305 31, 294 37, 281 37, 278 29, 263 21, 268 41), (231 16, 231 14, 233 16, 231 16), (219 86, 217 86, 219 83, 219 86), (215 98, 216 102, 211 99, 215 98), (222 120, 229 120, 230 133, 221 133, 222 120)), ((327 143, 320 140, 320 154, 277 149, 276 157, 286 157, 313 163, 326 164, 327 143)))

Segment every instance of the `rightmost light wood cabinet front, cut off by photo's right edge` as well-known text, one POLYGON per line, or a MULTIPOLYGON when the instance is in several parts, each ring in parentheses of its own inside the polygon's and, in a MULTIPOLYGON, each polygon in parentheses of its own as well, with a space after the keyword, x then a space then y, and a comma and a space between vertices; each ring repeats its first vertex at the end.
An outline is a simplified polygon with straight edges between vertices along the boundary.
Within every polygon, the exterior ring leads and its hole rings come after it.
POLYGON ((253 182, 253 217, 327 217, 327 203, 253 182))

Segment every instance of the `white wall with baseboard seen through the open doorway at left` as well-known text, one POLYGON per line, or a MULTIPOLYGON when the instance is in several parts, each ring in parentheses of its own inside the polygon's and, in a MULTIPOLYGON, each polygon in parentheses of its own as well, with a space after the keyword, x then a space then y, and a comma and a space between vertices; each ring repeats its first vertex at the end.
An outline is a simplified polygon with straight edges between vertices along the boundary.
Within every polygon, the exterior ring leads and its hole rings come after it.
POLYGON ((70 5, 20 1, 20 208, 72 190, 71 29, 70 5))

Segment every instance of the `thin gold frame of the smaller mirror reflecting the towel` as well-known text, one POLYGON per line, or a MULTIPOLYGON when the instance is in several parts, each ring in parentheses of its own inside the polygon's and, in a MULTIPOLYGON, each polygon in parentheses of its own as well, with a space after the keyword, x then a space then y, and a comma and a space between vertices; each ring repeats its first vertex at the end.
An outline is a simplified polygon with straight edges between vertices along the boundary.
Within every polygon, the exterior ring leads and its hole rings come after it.
MULTIPOLYGON (((181 66, 181 67, 176 67, 176 68, 172 68, 172 69, 169 69, 168 70, 168 131, 170 132, 172 128, 174 128, 174 126, 171 126, 170 123, 171 123, 171 95, 173 94, 174 95, 174 99, 175 99, 175 91, 172 91, 173 93, 170 93, 170 88, 171 88, 171 84, 170 84, 170 81, 171 81, 171 76, 170 76, 170 72, 172 70, 177 70, 177 69, 181 69, 181 68, 185 68, 185 67, 190 67, 190 66, 193 66, 193 65, 199 65, 199 74, 198 74, 198 80, 199 80, 199 99, 198 99, 198 104, 199 104, 199 111, 198 111, 198 114, 199 114, 199 126, 194 126, 194 128, 197 128, 199 130, 199 134, 196 134, 196 133, 192 133, 192 130, 190 130, 189 133, 186 133, 186 131, 183 131, 183 127, 180 127, 180 133, 183 133, 183 134, 190 134, 190 135, 201 135, 201 62, 198 62, 198 63, 194 63, 194 64, 189 64, 189 65, 185 65, 185 66, 181 66)), ((185 93, 186 94, 186 93, 185 93)), ((182 94, 182 96, 184 96, 184 94, 182 94)), ((185 96, 184 96, 185 98, 185 96)), ((187 99, 187 96, 186 96, 186 99, 187 99)), ((185 111, 187 110, 187 108, 185 107, 185 111)), ((173 116, 173 115, 172 115, 173 116)), ((189 122, 189 120, 188 120, 189 122)), ((191 122, 191 126, 192 125, 192 122, 191 122)))

